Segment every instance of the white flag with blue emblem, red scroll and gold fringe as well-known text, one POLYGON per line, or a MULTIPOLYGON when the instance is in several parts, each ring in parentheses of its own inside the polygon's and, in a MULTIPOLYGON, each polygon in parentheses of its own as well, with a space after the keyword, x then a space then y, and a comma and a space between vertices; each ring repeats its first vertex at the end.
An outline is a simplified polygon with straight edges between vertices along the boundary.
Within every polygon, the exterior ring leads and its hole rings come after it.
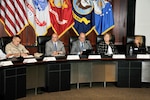
POLYGON ((37 36, 47 33, 50 28, 49 2, 47 0, 26 0, 27 17, 29 24, 37 36))

